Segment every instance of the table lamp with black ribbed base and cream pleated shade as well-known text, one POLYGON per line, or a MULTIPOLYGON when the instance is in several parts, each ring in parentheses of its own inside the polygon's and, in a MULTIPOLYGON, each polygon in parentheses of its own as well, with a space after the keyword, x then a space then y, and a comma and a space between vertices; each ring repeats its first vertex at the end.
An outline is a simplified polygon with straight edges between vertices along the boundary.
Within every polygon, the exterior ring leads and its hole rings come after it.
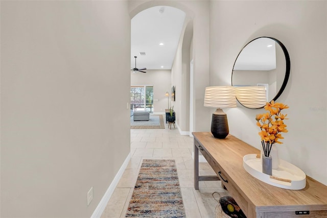
POLYGON ((217 108, 211 121, 211 133, 215 138, 224 139, 229 133, 227 114, 222 108, 236 107, 234 87, 209 86, 205 88, 204 107, 217 108))

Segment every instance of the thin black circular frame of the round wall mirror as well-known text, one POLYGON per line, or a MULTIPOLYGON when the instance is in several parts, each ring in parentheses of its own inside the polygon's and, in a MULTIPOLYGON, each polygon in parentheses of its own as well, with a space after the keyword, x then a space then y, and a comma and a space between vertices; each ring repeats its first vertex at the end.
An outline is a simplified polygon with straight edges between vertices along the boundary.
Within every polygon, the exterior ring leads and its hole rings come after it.
MULTIPOLYGON (((251 41, 249 41, 246 45, 244 45, 244 47, 242 48, 242 50, 240 51, 240 53, 238 54, 238 56, 236 57, 235 59, 235 62, 234 62, 234 65, 233 65, 233 69, 231 71, 231 85, 233 85, 233 70, 234 70, 234 67, 235 67, 235 63, 239 57, 239 55, 242 53, 243 49, 249 44, 251 43, 252 41, 256 40, 256 39, 259 39, 259 38, 270 38, 272 40, 274 40, 275 42, 277 42, 279 44, 279 46, 282 47, 282 50, 284 52, 284 55, 285 55, 285 61, 286 61, 286 72, 285 72, 285 78, 284 78, 284 81, 283 81, 283 84, 281 86, 281 88, 279 89, 279 91, 277 92, 277 94, 274 96, 274 98, 271 101, 276 101, 278 99, 279 96, 281 96, 281 94, 283 93, 286 85, 287 85, 287 82, 288 82, 288 79, 290 77, 290 70, 291 70, 291 61, 290 61, 290 55, 288 54, 288 51, 285 47, 285 45, 279 41, 278 39, 275 39, 275 38, 272 38, 272 37, 268 37, 268 36, 262 36, 262 37, 258 37, 258 38, 255 38, 251 41)), ((236 98, 237 99, 237 98, 236 98)), ((243 107, 246 107, 244 106, 238 99, 237 101, 243 106, 243 107)), ((265 105, 263 105, 262 107, 260 108, 263 108, 265 105)), ((249 108, 249 107, 246 107, 246 108, 249 108)), ((259 108, 250 108, 250 109, 259 109, 259 108)))

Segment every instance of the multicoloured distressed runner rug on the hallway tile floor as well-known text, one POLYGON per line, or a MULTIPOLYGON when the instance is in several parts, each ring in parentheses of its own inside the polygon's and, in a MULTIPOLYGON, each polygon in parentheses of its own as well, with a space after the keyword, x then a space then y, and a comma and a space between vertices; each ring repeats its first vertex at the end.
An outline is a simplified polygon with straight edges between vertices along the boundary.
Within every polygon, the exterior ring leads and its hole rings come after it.
POLYGON ((186 217, 175 160, 143 160, 126 217, 186 217))

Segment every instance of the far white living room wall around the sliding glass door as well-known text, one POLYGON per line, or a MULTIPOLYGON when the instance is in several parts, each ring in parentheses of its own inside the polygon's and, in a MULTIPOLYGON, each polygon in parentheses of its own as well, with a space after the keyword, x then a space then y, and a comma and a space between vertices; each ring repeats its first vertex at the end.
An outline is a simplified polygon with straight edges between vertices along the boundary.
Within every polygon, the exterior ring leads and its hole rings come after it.
POLYGON ((165 113, 165 109, 171 107, 171 70, 167 69, 147 69, 147 73, 138 72, 131 74, 131 85, 152 85, 153 86, 153 112, 165 113), (168 97, 165 96, 169 92, 168 97))

